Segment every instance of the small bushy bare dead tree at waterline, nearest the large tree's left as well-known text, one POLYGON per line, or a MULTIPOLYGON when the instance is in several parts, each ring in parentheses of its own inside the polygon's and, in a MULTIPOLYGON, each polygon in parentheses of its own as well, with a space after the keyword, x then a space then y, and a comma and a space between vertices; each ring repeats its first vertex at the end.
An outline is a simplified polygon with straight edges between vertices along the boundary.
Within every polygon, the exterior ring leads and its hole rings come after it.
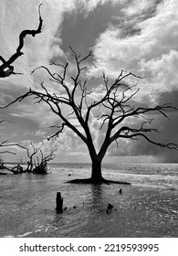
POLYGON ((44 156, 41 150, 43 144, 36 147, 32 142, 30 142, 30 148, 27 148, 21 144, 18 144, 18 146, 25 149, 27 155, 26 169, 23 172, 33 174, 47 174, 47 163, 53 160, 56 156, 55 148, 51 149, 50 153, 44 156))

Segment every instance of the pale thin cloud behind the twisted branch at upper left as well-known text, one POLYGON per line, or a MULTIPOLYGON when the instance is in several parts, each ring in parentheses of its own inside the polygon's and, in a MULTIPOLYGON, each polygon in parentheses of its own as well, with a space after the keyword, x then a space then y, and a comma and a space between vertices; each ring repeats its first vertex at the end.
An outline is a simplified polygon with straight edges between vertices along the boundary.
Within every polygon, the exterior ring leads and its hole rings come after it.
MULTIPOLYGON (((38 5, 41 1, 31 0, 26 5, 25 1, 15 0, 9 2, 2 0, 0 3, 0 37, 3 38, 0 46, 0 54, 8 59, 16 52, 18 37, 24 29, 37 29, 38 5)), ((53 56, 63 55, 57 47, 61 40, 57 37, 58 28, 63 21, 64 13, 72 11, 74 1, 44 0, 41 5, 43 19, 42 33, 36 37, 27 36, 23 48, 24 55, 14 62, 16 72, 22 72, 23 76, 14 76, 11 83, 21 87, 32 87, 34 80, 30 73, 40 65, 48 64, 53 56)), ((0 82, 1 83, 1 82, 0 82)))

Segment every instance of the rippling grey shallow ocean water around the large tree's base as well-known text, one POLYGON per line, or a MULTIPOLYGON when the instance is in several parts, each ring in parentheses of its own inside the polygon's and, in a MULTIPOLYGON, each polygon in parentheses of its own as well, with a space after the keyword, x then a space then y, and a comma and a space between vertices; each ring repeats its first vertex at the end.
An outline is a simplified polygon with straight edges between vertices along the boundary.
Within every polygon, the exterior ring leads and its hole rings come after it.
POLYGON ((47 176, 0 176, 0 237, 178 237, 177 164, 103 165, 104 177, 131 186, 65 183, 89 175, 90 165, 58 164, 47 176))

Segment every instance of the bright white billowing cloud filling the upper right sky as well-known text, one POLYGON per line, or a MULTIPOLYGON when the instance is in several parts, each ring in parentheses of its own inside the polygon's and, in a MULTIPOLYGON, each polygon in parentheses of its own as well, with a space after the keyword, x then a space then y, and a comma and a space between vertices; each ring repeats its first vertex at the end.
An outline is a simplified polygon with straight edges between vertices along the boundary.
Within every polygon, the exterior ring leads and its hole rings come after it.
MULTIPOLYGON (((123 9, 125 20, 132 20, 133 15, 141 15, 153 5, 152 1, 150 5, 146 5, 148 1, 141 1, 138 9, 138 1, 132 3, 134 5, 123 9)), ((89 70, 90 76, 99 77, 104 71, 115 78, 121 69, 126 69, 150 78, 141 80, 142 95, 178 89, 178 2, 165 0, 154 7, 154 16, 133 23, 138 32, 123 34, 125 26, 121 27, 119 20, 99 36, 93 48, 95 61, 89 70)))

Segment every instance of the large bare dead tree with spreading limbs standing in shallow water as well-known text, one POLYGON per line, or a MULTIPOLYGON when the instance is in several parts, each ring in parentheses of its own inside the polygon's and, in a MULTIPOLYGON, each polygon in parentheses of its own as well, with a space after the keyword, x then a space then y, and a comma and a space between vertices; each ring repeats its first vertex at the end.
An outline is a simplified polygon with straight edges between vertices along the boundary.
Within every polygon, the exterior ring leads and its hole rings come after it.
MULTIPOLYGON (((123 70, 121 70, 119 76, 111 82, 106 75, 103 74, 102 94, 98 98, 92 98, 93 92, 89 91, 87 80, 85 80, 84 77, 85 70, 87 69, 85 65, 92 53, 89 52, 87 56, 81 57, 72 48, 70 48, 70 50, 76 65, 76 72, 70 77, 70 83, 68 83, 68 63, 65 65, 51 63, 51 65, 55 65, 56 68, 60 70, 58 73, 53 73, 50 69, 47 69, 47 67, 41 66, 37 69, 45 69, 47 71, 49 80, 57 83, 58 93, 51 92, 51 90, 49 91, 49 89, 45 87, 44 82, 41 82, 39 91, 29 89, 26 94, 10 103, 23 101, 29 96, 34 97, 36 103, 46 103, 51 112, 58 115, 60 123, 59 125, 51 126, 56 127, 57 132, 53 133, 48 139, 57 137, 63 132, 65 127, 68 127, 87 145, 92 163, 91 177, 89 179, 77 179, 70 182, 112 182, 102 177, 101 162, 110 144, 116 142, 119 146, 120 139, 136 140, 142 137, 147 140, 148 143, 169 149, 177 149, 177 144, 162 144, 153 141, 149 137, 149 133, 157 132, 157 129, 152 128, 152 119, 148 117, 148 114, 158 112, 165 118, 168 118, 166 112, 176 110, 172 104, 166 103, 154 107, 144 107, 142 104, 136 106, 135 103, 131 103, 134 102, 134 96, 136 96, 139 89, 137 83, 130 85, 128 82, 125 82, 125 80, 132 77, 137 80, 141 78, 132 72, 125 72, 123 70), (68 114, 66 111, 63 111, 63 106, 68 107, 68 114), (94 111, 98 112, 97 120, 101 123, 99 129, 105 127, 106 131, 104 140, 99 149, 97 149, 94 144, 89 127, 89 119, 94 111), (70 119, 70 117, 72 118, 70 119), (72 123, 72 119, 74 118, 78 120, 80 129, 72 123), (132 127, 131 125, 125 124, 126 121, 131 118, 140 120, 137 126, 132 127)), ((33 70, 33 72, 37 71, 37 69, 33 70)))

